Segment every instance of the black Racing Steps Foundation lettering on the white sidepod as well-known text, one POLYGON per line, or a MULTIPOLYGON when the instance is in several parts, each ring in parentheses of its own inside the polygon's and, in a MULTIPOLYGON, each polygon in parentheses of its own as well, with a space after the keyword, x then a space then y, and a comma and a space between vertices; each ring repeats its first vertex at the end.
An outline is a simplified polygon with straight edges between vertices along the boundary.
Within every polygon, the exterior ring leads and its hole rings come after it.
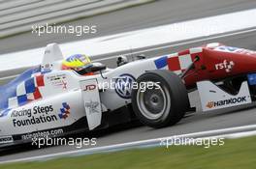
POLYGON ((56 115, 51 114, 53 111, 52 105, 34 106, 31 109, 13 110, 11 118, 13 118, 14 127, 45 124, 58 120, 56 115))

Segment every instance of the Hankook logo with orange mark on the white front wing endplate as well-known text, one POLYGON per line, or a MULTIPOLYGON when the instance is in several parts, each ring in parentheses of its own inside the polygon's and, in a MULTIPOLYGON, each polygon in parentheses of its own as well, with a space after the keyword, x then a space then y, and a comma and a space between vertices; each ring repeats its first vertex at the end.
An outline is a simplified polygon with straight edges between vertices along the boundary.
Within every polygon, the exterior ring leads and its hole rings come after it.
POLYGON ((236 104, 236 103, 246 102, 246 101, 247 101, 246 97, 238 97, 238 98, 223 99, 223 100, 218 100, 218 101, 208 101, 206 106, 208 108, 214 108, 214 107, 236 104))

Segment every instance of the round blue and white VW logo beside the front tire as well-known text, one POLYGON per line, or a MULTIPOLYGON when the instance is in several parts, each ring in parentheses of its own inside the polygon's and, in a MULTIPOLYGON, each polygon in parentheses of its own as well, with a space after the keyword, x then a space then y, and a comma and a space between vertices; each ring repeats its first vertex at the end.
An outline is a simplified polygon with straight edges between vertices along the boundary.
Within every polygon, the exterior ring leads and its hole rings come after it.
POLYGON ((131 74, 121 74, 115 80, 114 88, 116 94, 123 99, 131 99, 132 87, 134 82, 135 78, 131 74))

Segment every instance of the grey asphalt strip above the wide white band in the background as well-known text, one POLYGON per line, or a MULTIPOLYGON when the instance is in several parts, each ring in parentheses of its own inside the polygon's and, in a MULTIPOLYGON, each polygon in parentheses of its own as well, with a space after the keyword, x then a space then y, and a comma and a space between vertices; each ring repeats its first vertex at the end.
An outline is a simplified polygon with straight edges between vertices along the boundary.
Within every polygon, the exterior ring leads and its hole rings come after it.
MULTIPOLYGON (((79 41, 177 21, 253 9, 255 7, 256 1, 254 0, 157 0, 154 3, 110 14, 96 15, 66 24, 74 26, 96 25, 97 34, 86 34, 81 37, 69 34, 45 34, 44 36, 38 37, 36 34, 28 32, 15 37, 0 39, 0 54, 42 47, 50 42, 79 41)), ((248 19, 249 21, 250 18, 244 19, 248 19)))

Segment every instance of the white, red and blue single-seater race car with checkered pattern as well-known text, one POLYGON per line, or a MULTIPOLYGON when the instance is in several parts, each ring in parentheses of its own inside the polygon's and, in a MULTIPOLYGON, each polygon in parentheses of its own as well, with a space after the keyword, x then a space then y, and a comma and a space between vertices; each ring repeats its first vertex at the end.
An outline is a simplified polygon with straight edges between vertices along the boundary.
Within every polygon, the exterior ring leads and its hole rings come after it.
POLYGON ((64 59, 48 44, 40 66, 0 87, 0 145, 30 142, 140 120, 178 123, 198 90, 202 110, 255 100, 256 52, 214 42, 106 68, 81 54, 64 59))

